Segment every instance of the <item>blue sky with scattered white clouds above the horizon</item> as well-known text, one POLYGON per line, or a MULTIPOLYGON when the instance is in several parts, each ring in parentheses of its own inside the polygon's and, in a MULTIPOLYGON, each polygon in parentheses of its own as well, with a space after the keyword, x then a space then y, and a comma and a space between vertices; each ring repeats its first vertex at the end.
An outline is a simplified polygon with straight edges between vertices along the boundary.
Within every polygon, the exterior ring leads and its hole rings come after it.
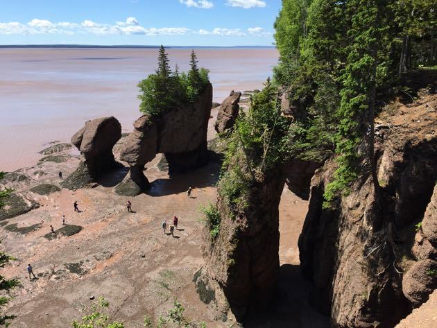
POLYGON ((271 45, 281 0, 0 0, 0 44, 271 45))

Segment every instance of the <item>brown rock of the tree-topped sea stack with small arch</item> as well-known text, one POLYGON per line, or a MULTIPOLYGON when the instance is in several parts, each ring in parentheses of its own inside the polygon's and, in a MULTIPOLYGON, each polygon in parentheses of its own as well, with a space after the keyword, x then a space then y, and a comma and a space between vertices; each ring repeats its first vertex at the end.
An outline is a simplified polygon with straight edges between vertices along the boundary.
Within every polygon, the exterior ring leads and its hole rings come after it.
POLYGON ((137 119, 120 155, 120 159, 130 165, 130 173, 115 191, 135 196, 150 189, 143 169, 158 153, 166 157, 169 174, 206 164, 211 107, 212 85, 209 84, 194 103, 169 110, 160 117, 145 114, 137 119))

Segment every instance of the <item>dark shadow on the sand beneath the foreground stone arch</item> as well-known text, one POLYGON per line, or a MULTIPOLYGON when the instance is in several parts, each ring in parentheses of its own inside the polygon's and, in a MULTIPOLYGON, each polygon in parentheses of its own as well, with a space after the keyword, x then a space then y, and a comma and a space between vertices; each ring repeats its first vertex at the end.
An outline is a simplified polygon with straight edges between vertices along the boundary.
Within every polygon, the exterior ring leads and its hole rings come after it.
POLYGON ((283 264, 277 295, 271 306, 250 311, 244 328, 328 328, 329 318, 309 306, 312 284, 303 279, 299 266, 283 264))

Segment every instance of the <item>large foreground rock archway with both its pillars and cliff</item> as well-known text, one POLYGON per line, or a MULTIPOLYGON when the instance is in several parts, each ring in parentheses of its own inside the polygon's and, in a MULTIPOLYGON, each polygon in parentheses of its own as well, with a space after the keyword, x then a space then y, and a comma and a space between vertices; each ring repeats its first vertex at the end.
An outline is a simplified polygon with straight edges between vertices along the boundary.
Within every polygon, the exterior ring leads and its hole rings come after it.
POLYGON ((393 132, 377 130, 379 193, 363 170, 347 196, 324 206, 336 169, 331 158, 316 170, 311 186, 305 163, 266 174, 251 186, 242 211, 230 211, 218 198, 221 225, 216 239, 207 236, 198 291, 214 291, 218 309, 230 307, 240 321, 250 307, 268 304, 277 282, 277 204, 286 180, 302 198, 310 191, 300 268, 314 284, 311 304, 330 317, 332 327, 391 328, 426 302, 437 286, 429 275, 437 266, 437 117, 426 108, 415 108, 420 119, 414 128, 399 123, 393 132), (415 228, 420 221, 422 228, 415 228))

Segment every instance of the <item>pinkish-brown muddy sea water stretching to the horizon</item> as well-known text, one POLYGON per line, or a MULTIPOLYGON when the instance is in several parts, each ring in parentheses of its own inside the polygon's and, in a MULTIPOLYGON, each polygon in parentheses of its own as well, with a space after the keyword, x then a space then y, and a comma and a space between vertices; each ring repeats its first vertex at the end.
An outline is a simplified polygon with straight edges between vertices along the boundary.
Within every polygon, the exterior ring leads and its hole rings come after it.
MULTIPOLYGON (((169 49, 171 66, 189 68, 191 49, 169 49)), ((196 49, 209 69, 214 101, 261 89, 275 49, 196 49)), ((155 71, 157 49, 0 49, 0 171, 33 165, 50 142, 67 142, 85 121, 115 116, 123 132, 140 116, 139 80, 155 71)))

